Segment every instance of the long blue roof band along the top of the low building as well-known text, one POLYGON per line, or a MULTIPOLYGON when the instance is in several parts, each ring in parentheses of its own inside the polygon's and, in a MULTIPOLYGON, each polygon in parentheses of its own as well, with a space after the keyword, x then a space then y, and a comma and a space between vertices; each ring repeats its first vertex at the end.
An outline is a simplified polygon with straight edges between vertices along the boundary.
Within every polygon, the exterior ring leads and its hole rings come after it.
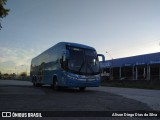
POLYGON ((106 60, 101 67, 122 67, 146 64, 160 64, 160 52, 106 60))

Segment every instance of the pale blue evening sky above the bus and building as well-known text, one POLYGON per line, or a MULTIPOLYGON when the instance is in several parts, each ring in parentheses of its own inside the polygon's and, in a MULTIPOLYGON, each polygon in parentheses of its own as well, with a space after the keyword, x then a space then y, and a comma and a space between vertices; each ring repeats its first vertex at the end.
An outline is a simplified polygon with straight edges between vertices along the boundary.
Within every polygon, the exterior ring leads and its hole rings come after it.
POLYGON ((160 51, 160 0, 8 0, 0 71, 29 73, 31 59, 58 42, 94 47, 106 59, 160 51))

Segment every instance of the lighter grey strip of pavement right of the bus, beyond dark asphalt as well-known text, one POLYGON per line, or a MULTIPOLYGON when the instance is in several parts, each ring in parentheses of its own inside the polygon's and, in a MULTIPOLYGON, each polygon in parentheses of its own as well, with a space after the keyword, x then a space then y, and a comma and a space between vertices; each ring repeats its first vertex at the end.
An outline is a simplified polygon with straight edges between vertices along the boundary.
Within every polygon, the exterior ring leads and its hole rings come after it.
POLYGON ((134 99, 146 103, 153 110, 160 111, 160 90, 146 90, 135 88, 117 88, 117 87, 97 87, 90 90, 97 90, 121 95, 126 98, 134 99))

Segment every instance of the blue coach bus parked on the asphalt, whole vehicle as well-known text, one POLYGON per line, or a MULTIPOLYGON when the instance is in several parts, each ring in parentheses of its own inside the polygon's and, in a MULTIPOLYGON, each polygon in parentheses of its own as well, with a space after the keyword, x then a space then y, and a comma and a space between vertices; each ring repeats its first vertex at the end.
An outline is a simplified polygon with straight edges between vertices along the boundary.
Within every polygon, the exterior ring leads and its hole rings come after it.
POLYGON ((30 77, 34 86, 43 84, 59 87, 98 87, 100 67, 93 47, 82 44, 60 42, 31 61, 30 77))

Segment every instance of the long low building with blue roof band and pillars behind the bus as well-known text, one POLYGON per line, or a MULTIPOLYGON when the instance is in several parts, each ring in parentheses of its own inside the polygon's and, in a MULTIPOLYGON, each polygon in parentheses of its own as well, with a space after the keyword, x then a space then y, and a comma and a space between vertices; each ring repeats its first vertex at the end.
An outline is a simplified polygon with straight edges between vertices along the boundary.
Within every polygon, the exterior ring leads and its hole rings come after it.
POLYGON ((107 60, 103 75, 113 80, 160 80, 160 52, 107 60))

